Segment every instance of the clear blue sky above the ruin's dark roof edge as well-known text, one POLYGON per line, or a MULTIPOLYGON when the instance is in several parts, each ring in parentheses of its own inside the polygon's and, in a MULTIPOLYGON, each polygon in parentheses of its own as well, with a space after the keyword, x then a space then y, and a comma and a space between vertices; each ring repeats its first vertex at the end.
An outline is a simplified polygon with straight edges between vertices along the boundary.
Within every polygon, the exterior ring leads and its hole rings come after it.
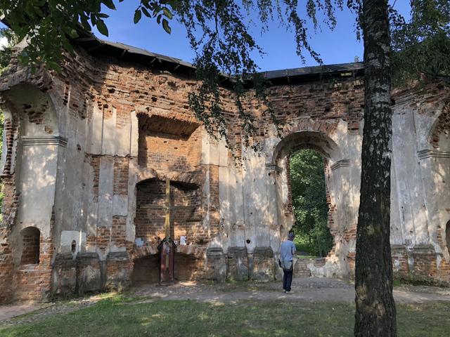
MULTIPOLYGON (((150 20, 143 16, 137 25, 133 23, 134 10, 139 4, 139 0, 125 0, 122 3, 114 1, 117 11, 107 11, 110 18, 106 19, 109 29, 109 37, 103 37, 94 29, 94 33, 101 39, 122 42, 131 46, 145 48, 148 51, 169 55, 174 58, 181 58, 192 62, 194 53, 191 50, 186 31, 176 20, 170 23, 172 34, 167 34, 155 20, 150 20)), ((299 1, 301 4, 304 0, 299 1)), ((345 1, 346 2, 346 1, 345 1)), ((390 0, 395 8, 409 17, 409 0, 390 0)), ((333 32, 328 27, 323 26, 322 31, 313 33, 311 30, 311 45, 321 54, 325 64, 353 62, 355 57, 363 59, 362 41, 356 40, 354 32, 354 14, 347 8, 337 13, 338 25, 333 32)), ((251 28, 252 34, 257 39, 257 43, 266 53, 263 57, 255 54, 255 60, 262 71, 287 69, 316 65, 309 55, 306 64, 303 64, 295 52, 295 40, 293 32, 286 32, 284 27, 279 27, 278 22, 269 25, 269 31, 260 34, 257 26, 251 28)))

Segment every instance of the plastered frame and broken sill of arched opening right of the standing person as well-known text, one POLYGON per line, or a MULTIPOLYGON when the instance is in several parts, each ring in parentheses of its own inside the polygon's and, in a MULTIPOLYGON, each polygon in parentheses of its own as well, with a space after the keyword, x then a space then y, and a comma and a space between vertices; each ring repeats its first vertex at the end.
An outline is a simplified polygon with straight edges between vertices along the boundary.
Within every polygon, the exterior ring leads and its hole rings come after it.
MULTIPOLYGON (((281 240, 295 226, 290 190, 290 157, 300 150, 310 150, 323 157, 328 204, 327 227, 333 237, 333 249, 326 260, 308 267, 314 276, 348 277, 354 265, 359 174, 352 172, 351 161, 344 157, 340 146, 326 133, 298 131, 290 133, 275 147, 273 165, 276 168, 278 223, 281 240), (357 178, 357 179, 356 179, 357 178)), ((359 196, 359 194, 358 194, 359 196)))

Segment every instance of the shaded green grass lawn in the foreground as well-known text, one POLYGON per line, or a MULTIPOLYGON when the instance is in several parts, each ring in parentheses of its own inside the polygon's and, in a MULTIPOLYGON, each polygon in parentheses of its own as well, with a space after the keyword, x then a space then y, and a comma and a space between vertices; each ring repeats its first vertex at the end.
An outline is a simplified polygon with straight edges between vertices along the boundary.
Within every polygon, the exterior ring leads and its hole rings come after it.
MULTIPOLYGON (((397 305, 397 311, 399 336, 449 336, 450 303, 397 305)), ((353 316, 352 303, 136 303, 114 296, 33 324, 0 327, 0 336, 352 336, 353 316)))

